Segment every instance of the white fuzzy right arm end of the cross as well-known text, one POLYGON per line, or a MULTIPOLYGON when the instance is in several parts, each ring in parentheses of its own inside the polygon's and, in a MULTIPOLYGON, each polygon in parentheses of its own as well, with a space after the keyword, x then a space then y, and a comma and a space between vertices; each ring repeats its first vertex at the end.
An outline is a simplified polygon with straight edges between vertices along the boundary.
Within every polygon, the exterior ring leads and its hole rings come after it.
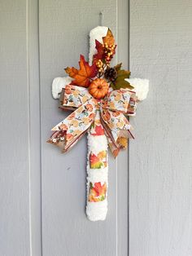
POLYGON ((125 78, 124 80, 134 87, 132 90, 136 92, 138 100, 146 99, 149 91, 149 80, 141 78, 125 78))

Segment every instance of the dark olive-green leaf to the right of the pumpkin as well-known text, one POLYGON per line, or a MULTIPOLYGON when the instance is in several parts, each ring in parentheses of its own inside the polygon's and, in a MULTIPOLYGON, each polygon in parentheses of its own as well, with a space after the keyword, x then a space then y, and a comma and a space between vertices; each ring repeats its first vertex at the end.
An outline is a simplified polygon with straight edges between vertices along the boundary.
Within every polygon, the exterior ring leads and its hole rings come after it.
POLYGON ((120 63, 114 67, 117 72, 117 77, 114 82, 111 82, 111 87, 113 88, 113 90, 118 90, 120 88, 129 88, 130 90, 132 90, 133 86, 131 86, 129 82, 124 80, 124 78, 129 78, 131 73, 129 70, 121 69, 121 65, 122 64, 120 63))

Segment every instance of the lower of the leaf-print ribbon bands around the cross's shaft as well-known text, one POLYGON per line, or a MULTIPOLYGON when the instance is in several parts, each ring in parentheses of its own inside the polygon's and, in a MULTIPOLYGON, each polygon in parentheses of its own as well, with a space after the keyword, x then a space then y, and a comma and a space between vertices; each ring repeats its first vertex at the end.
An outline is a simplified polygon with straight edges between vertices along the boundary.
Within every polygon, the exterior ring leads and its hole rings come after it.
POLYGON ((98 202, 106 199, 107 183, 89 183, 89 202, 98 202))

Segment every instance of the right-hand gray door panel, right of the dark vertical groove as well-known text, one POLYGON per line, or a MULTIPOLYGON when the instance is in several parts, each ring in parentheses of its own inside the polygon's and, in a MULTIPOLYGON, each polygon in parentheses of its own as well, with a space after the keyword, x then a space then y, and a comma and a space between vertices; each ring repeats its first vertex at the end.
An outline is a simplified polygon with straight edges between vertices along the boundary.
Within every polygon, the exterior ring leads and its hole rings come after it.
POLYGON ((129 153, 130 256, 192 255, 191 17, 191 1, 130 1, 130 68, 150 79, 129 153))

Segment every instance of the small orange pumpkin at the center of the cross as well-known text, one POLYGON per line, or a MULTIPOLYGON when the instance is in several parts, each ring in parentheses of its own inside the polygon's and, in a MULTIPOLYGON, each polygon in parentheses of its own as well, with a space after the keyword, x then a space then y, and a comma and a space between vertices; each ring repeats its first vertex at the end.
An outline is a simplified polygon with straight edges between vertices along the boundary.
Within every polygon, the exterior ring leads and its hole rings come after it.
POLYGON ((103 99, 107 95, 109 85, 103 78, 95 79, 89 86, 89 94, 95 99, 103 99))

